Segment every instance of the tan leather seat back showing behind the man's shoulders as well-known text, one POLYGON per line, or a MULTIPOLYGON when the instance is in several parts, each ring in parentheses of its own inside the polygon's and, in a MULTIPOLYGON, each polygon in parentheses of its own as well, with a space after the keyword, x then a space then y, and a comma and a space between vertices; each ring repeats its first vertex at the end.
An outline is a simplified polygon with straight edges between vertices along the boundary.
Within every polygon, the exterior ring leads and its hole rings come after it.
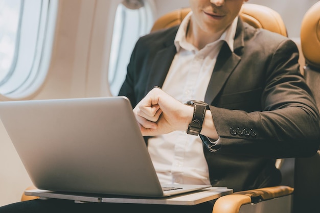
MULTIPOLYGON (((154 22, 151 32, 179 25, 190 11, 190 8, 182 8, 163 15, 154 22)), ((255 28, 263 28, 287 36, 282 17, 271 8, 256 4, 243 4, 240 17, 255 28)))

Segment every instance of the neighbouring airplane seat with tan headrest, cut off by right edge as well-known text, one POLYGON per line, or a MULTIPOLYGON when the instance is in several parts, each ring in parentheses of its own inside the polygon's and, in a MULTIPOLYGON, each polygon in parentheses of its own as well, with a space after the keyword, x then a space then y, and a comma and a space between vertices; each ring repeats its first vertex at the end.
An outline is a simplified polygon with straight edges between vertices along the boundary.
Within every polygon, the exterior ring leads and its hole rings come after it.
MULTIPOLYGON (((320 110, 320 2, 305 13, 300 37, 305 58, 304 78, 320 110)), ((294 213, 319 212, 320 147, 312 157, 296 158, 294 170, 294 213)))

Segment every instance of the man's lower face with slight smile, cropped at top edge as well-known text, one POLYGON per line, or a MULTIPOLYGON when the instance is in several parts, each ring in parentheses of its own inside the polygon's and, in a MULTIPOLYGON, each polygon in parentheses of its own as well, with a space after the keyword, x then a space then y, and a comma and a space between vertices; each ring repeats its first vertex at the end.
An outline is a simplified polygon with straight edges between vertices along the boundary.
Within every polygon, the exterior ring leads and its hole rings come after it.
POLYGON ((248 0, 190 0, 195 27, 207 33, 225 30, 248 0))

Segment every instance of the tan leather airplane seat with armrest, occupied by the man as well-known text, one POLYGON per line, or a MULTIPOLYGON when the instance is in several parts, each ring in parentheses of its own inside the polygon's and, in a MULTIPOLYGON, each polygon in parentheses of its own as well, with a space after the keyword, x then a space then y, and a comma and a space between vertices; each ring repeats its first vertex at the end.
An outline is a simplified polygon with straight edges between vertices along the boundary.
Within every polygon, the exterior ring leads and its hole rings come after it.
MULTIPOLYGON (((155 21, 151 32, 179 25, 189 12, 190 8, 182 8, 159 17, 155 21)), ((286 27, 281 16, 268 7, 244 4, 240 17, 256 28, 264 28, 287 36, 286 27)), ((291 213, 292 194, 293 188, 286 185, 236 192, 217 199, 213 213, 291 213)), ((22 196, 21 200, 25 199, 28 199, 28 196, 22 196)))

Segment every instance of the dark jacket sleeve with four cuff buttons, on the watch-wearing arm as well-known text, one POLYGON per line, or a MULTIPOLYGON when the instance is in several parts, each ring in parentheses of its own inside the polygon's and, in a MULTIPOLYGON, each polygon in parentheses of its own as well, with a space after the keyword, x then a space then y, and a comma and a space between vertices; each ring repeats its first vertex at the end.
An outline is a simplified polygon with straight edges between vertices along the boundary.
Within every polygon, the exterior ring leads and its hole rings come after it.
POLYGON ((284 40, 270 57, 261 111, 210 106, 219 145, 200 137, 211 152, 285 158, 311 156, 319 148, 319 113, 299 72, 298 49, 292 41, 284 40))

